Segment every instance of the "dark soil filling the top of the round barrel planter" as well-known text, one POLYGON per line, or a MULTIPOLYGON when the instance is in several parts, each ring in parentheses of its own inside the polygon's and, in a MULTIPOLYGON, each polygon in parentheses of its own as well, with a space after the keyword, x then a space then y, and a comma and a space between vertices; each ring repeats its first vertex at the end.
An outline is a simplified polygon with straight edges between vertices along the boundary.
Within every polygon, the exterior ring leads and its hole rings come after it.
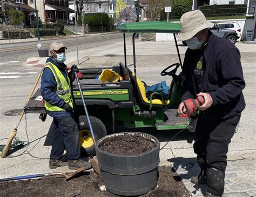
POLYGON ((99 144, 101 150, 115 155, 138 155, 149 152, 156 146, 155 142, 138 134, 116 135, 99 144))

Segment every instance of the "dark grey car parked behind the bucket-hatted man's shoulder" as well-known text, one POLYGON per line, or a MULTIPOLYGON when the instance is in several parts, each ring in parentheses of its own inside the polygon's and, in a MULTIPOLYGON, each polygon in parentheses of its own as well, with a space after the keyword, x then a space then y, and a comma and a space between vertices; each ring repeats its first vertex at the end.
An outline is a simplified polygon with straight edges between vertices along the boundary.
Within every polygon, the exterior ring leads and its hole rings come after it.
MULTIPOLYGON (((210 30, 214 35, 228 39, 233 44, 235 44, 239 38, 235 30, 221 29, 218 23, 214 23, 213 28, 210 28, 210 30)), ((182 43, 185 46, 187 45, 186 41, 183 41, 182 43)))

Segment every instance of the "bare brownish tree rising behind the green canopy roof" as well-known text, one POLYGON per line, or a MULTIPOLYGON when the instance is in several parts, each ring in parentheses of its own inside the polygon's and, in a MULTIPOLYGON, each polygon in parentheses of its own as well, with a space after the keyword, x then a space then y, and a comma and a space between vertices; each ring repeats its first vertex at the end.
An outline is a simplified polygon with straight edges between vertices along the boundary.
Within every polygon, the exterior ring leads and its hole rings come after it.
POLYGON ((161 9, 164 9, 166 6, 171 6, 171 0, 146 0, 147 3, 147 17, 152 20, 158 20, 160 16, 161 9))

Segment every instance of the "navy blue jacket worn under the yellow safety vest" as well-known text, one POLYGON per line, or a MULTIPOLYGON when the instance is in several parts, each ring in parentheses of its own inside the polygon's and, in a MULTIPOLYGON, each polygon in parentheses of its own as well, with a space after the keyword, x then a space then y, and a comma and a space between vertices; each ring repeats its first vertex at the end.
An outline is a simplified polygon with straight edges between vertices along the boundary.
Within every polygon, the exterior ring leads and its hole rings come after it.
MULTIPOLYGON (((60 70, 60 72, 62 72, 65 79, 68 80, 68 76, 66 75, 66 72, 65 72, 65 69, 66 69, 65 64, 59 65, 53 60, 51 56, 46 60, 46 63, 48 62, 51 62, 52 64, 56 65, 60 70)), ((51 105, 62 108, 63 105, 65 104, 65 101, 59 98, 59 96, 54 92, 54 90, 56 89, 57 89, 57 82, 53 76, 53 73, 49 68, 46 67, 41 77, 42 97, 44 98, 44 100, 48 101, 48 103, 50 103, 51 105)), ((53 118, 70 115, 70 113, 67 111, 58 111, 58 112, 47 111, 47 112, 49 116, 53 118)))

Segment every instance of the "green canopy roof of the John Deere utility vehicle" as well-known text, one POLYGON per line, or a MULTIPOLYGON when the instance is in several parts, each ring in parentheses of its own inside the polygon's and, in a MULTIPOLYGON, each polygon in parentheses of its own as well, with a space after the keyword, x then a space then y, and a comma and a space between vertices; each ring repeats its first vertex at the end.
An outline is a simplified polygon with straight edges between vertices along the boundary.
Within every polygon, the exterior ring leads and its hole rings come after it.
POLYGON ((146 21, 139 23, 124 23, 117 26, 117 31, 124 33, 136 32, 161 32, 161 33, 178 33, 180 31, 179 23, 162 22, 162 21, 146 21))

